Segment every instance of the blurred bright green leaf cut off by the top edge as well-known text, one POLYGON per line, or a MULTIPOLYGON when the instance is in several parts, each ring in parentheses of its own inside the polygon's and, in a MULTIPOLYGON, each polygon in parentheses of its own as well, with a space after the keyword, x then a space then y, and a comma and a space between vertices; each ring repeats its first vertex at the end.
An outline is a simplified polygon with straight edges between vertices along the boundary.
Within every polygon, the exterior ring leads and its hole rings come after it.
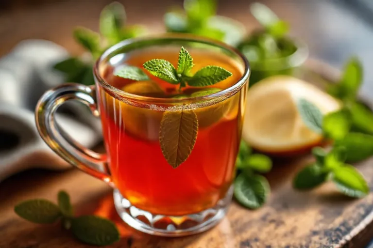
POLYGON ((210 16, 216 14, 216 0, 184 0, 188 28, 202 27, 210 16))

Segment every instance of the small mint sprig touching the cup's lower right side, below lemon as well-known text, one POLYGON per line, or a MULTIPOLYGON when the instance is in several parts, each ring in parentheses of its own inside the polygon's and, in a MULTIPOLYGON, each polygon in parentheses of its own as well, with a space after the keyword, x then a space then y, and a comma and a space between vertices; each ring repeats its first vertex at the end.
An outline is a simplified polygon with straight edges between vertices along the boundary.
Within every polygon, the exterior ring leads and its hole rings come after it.
POLYGON ((253 154, 251 147, 241 141, 236 168, 235 198, 247 208, 261 207, 267 201, 271 188, 267 179, 258 173, 271 171, 271 159, 266 155, 253 154))

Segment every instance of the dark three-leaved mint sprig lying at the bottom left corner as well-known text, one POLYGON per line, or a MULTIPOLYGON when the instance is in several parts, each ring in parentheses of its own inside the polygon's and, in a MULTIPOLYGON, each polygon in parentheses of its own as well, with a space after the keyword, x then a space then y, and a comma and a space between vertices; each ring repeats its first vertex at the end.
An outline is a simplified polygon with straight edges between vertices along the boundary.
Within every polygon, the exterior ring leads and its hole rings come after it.
POLYGON ((65 191, 58 192, 58 205, 44 199, 21 202, 14 211, 19 217, 38 224, 51 224, 61 220, 80 241, 95 246, 107 246, 119 240, 115 224, 98 216, 74 217, 70 197, 65 191))

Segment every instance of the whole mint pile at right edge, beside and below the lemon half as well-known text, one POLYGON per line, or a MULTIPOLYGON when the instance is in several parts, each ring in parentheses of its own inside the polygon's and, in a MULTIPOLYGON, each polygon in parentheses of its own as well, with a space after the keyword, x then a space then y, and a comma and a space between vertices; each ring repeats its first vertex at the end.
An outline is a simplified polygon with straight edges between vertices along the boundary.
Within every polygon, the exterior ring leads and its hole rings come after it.
POLYGON ((359 162, 373 155, 373 114, 357 102, 357 93, 362 81, 362 68, 356 58, 350 59, 338 84, 329 92, 342 100, 338 111, 322 115, 313 103, 298 100, 298 111, 305 125, 333 141, 330 153, 315 148, 316 163, 300 171, 293 182, 295 188, 311 189, 327 180, 333 180, 339 190, 351 197, 368 194, 369 187, 363 176, 346 163, 359 162))

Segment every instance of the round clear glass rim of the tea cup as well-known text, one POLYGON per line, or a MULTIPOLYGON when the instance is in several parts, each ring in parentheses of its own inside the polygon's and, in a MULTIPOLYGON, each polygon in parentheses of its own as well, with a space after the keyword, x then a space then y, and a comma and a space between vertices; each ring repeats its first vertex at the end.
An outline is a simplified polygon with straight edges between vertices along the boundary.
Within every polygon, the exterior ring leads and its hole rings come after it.
MULTIPOLYGON (((149 46, 151 47, 151 46, 149 46)), ((150 103, 158 103, 158 104, 180 104, 180 103, 194 103, 194 102, 200 102, 200 101, 207 101, 207 100, 213 100, 216 98, 228 98, 229 96, 237 93, 245 84, 245 82, 249 79, 251 73, 250 65, 246 57, 238 51, 236 48, 231 47, 223 42, 208 39, 196 35, 191 34, 157 34, 157 35, 147 35, 132 39, 127 39, 124 41, 121 41, 117 43, 116 45, 109 47, 106 49, 102 55, 97 59, 97 61, 94 64, 93 67, 93 75, 95 79, 98 81, 98 83, 103 87, 104 90, 106 90, 108 93, 112 93, 111 95, 115 98, 121 97, 126 100, 132 100, 136 102, 141 102, 144 104, 150 104, 150 103), (223 48, 225 50, 228 50, 232 52, 233 54, 237 55, 239 59, 242 60, 244 65, 244 72, 242 74, 242 77, 237 80, 237 82, 230 87, 221 90, 220 92, 209 94, 209 95, 203 95, 203 96, 196 96, 196 97, 186 97, 186 98, 158 98, 158 97, 150 97, 150 96, 141 96, 136 95, 132 93, 124 92, 118 88, 115 88, 114 86, 108 84, 99 73, 99 67, 101 62, 106 59, 110 54, 115 52, 116 50, 120 49, 121 47, 126 47, 128 45, 131 45, 136 42, 142 42, 142 41, 151 41, 151 40, 174 40, 174 41, 181 41, 181 42, 195 42, 205 45, 210 45, 213 47, 219 47, 223 48), (227 97, 228 96, 228 97, 227 97)))

